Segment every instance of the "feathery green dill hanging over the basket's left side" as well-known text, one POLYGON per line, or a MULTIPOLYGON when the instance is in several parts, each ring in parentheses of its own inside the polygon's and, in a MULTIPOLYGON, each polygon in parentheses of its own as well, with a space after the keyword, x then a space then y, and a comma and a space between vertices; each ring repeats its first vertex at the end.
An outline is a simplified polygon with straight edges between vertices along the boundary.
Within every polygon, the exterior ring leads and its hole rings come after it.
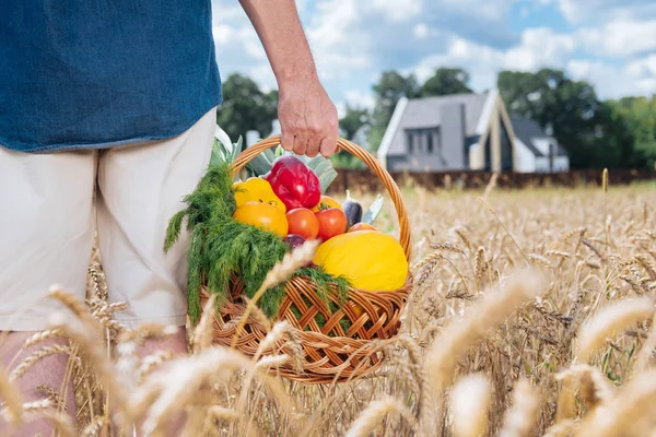
MULTIPOLYGON (((187 208, 168 223, 164 250, 168 251, 179 237, 183 222, 191 232, 187 259, 189 273, 188 311, 196 324, 200 318, 200 290, 203 283, 218 295, 218 305, 226 297, 232 273, 244 282, 245 294, 253 297, 267 273, 282 260, 289 246, 276 234, 265 232, 233 218, 236 210, 233 176, 223 161, 210 164, 196 190, 185 197, 187 208)), ((336 284, 345 296, 348 282, 320 269, 301 269, 294 275, 307 275, 320 293, 336 284)), ((284 285, 269 290, 258 302, 262 311, 273 317, 284 297, 284 285)))

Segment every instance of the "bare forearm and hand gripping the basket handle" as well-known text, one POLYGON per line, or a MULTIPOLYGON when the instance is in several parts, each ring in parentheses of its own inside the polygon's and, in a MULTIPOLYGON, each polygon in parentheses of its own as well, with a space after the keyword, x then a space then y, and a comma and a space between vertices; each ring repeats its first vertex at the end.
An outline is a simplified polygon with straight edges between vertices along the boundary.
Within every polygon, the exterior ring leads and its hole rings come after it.
POLYGON ((283 149, 316 156, 337 147, 337 108, 321 86, 294 0, 239 0, 278 81, 283 149))

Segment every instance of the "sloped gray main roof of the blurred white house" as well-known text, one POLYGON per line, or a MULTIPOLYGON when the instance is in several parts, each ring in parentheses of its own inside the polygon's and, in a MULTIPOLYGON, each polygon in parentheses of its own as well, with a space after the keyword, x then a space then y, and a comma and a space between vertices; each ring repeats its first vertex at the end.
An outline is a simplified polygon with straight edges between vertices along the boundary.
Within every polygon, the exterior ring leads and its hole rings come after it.
POLYGON ((453 94, 447 96, 413 98, 408 101, 403 114, 403 128, 433 128, 441 126, 440 108, 445 105, 465 105, 467 137, 476 134, 476 127, 483 111, 488 94, 453 94))

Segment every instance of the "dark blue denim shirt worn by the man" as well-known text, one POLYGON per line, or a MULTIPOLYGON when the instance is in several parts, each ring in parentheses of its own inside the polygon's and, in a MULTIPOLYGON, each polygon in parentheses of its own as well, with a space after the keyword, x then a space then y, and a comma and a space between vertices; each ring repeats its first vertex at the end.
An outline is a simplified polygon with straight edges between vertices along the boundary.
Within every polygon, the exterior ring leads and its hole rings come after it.
POLYGON ((220 103, 211 0, 0 2, 0 145, 165 139, 220 103))

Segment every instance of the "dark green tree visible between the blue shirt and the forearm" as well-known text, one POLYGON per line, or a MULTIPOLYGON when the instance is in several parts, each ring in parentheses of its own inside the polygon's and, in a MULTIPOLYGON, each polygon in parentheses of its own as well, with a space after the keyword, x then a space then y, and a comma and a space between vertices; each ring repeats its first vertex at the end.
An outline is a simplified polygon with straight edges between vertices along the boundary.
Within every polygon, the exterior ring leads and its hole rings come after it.
POLYGON ((271 123, 278 116, 278 91, 263 93, 249 78, 231 74, 222 85, 223 103, 216 114, 216 123, 237 141, 246 132, 257 130, 262 138, 271 133, 271 123))

